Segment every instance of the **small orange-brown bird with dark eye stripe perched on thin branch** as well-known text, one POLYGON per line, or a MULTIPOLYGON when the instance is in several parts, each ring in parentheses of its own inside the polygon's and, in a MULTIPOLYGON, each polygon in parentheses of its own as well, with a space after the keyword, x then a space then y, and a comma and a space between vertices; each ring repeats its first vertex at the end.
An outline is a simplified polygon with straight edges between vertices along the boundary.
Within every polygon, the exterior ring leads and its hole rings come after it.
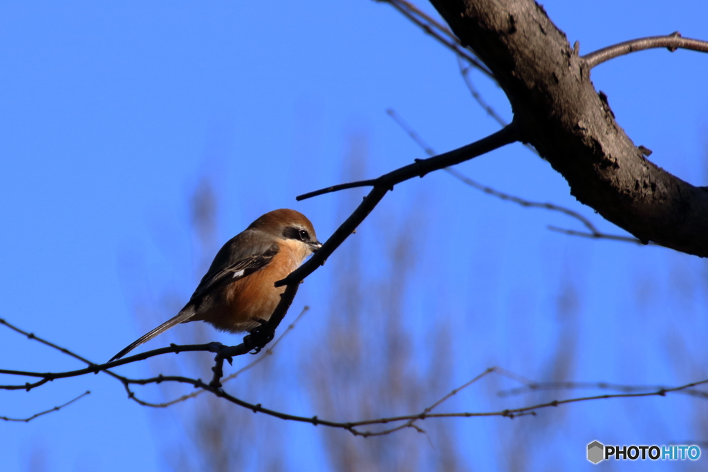
POLYGON ((108 362, 179 323, 206 321, 217 330, 242 333, 268 321, 285 287, 275 287, 322 244, 312 222, 294 209, 263 214, 219 249, 183 309, 142 335, 108 362))

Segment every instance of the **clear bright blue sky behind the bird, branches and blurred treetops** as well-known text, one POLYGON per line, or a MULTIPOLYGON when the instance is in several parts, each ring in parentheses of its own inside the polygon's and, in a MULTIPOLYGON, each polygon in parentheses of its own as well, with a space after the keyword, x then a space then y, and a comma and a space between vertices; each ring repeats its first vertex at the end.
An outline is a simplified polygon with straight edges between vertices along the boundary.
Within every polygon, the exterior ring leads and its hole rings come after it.
MULTIPOLYGON (((553 0, 544 7, 571 43, 580 41, 581 53, 675 30, 708 39, 703 0, 678 0, 671 8, 659 1, 553 0)), ((198 253, 189 229, 189 195, 203 178, 220 202, 217 245, 279 207, 307 214, 324 240, 355 201, 323 196, 298 203, 295 195, 341 182, 353 137, 367 142, 365 176, 423 156, 387 108, 439 152, 497 129, 469 96, 455 57, 393 8, 372 1, 8 1, 0 5, 0 64, 0 317, 95 362, 161 321, 138 319, 136 306, 160 304, 166 293, 176 305, 190 296, 202 275, 200 258, 208 257, 198 253)), ((510 117, 503 93, 473 77, 510 117)), ((708 178, 706 77, 708 56, 666 50, 615 59, 592 75, 635 144, 695 185, 707 185, 708 178)), ((459 170, 498 190, 566 205, 607 232, 621 232, 574 202, 561 176, 523 146, 459 170)), ((546 226, 580 228, 434 173, 400 185, 362 224, 365 282, 385 270, 377 231, 400 231, 416 212, 425 215, 416 223, 423 238, 406 287, 411 316, 404 329, 421 341, 416 355, 425 364, 426 333, 440 323, 452 327, 451 386, 492 365, 547 379, 560 338, 576 346, 568 380, 683 384, 708 378, 701 367, 708 328, 704 261, 556 234, 546 226), (568 287, 581 307, 572 323, 556 313, 568 287), (424 316, 430 307, 445 316, 424 316)), ((307 303, 312 312, 300 337, 290 340, 290 355, 302 352, 307 333, 321 333, 332 271, 352 248, 344 244, 333 264, 304 284, 294 309, 307 303)), ((225 343, 239 340, 206 333, 225 343)), ((146 347, 165 342, 157 338, 146 347)), ((35 371, 79 367, 5 329, 0 364, 35 371)), ((149 374, 141 366, 124 372, 149 374)), ((302 382, 288 379, 282 374, 279 388, 304 398, 302 382)), ((90 396, 59 413, 0 424, 8 470, 30 470, 33 456, 45 457, 52 464, 47 470, 171 470, 156 425, 164 421, 160 415, 179 413, 127 401, 108 376, 0 392, 0 415, 32 415, 87 389, 90 396)), ((450 410, 505 404, 491 388, 466 395, 450 410)), ((258 396, 250 399, 257 403, 258 396)), ((307 401, 291 406, 318 413, 307 401)), ((495 451, 486 459, 470 452, 469 466, 510 468, 510 444, 533 437, 528 444, 562 448, 561 464, 580 468, 588 464, 582 454, 593 439, 707 440, 705 410, 682 396, 572 405, 561 413, 569 415, 564 424, 575 421, 584 432, 565 437, 551 430, 533 434, 540 424, 533 418, 523 419, 524 434, 506 420, 452 420, 450 427, 463 445, 483 442, 495 451)), ((314 427, 282 427, 319 451, 309 466, 331 466, 314 427)), ((287 457, 307 456, 291 449, 287 457)), ((539 454, 527 466, 544 469, 547 460, 539 454)))

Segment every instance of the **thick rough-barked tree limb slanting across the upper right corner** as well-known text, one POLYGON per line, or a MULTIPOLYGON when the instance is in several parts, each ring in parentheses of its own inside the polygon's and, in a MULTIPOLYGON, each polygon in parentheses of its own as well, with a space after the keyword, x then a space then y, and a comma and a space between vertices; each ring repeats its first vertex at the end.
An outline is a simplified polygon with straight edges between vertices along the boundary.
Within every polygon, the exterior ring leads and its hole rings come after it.
POLYGON ((641 241, 708 256, 708 188, 646 159, 617 125, 607 97, 595 91, 578 48, 542 6, 532 0, 430 2, 498 80, 523 142, 566 178, 579 202, 641 241))

